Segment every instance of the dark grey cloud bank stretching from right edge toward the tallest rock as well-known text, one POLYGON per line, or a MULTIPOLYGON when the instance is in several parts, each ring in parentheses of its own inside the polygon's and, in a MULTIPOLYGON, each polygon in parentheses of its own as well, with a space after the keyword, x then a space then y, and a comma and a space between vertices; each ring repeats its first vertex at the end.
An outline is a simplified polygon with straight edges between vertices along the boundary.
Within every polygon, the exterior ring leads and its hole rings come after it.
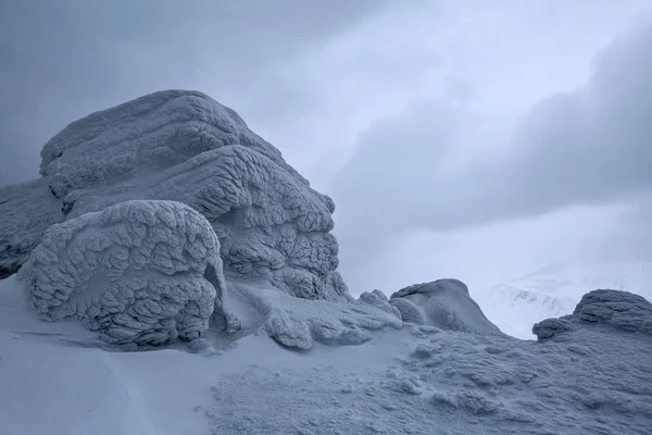
POLYGON ((587 86, 552 96, 522 119, 501 159, 472 159, 453 173, 437 162, 446 152, 432 150, 462 140, 463 128, 447 126, 460 113, 428 119, 411 109, 374 126, 339 175, 334 197, 347 216, 339 232, 365 245, 411 228, 461 228, 605 203, 651 187, 651 46, 652 27, 614 42, 587 86), (368 226, 372 212, 378 222, 368 226))

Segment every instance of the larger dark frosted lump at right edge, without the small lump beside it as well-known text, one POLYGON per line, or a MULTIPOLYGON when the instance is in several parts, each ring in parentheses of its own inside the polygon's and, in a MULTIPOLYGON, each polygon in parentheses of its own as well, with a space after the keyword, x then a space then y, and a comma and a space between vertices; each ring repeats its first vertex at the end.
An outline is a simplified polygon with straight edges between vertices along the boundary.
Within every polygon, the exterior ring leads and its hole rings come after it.
POLYGON ((590 291, 582 296, 573 315, 584 322, 600 322, 619 330, 652 335, 652 303, 629 291, 590 291))

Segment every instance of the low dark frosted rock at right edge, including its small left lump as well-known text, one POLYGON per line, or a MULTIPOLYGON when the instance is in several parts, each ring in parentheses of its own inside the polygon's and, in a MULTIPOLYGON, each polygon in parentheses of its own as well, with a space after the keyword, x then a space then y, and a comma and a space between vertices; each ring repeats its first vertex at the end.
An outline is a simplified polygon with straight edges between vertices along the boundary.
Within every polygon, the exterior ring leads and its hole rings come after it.
POLYGON ((652 303, 629 291, 589 291, 582 296, 573 314, 546 319, 532 326, 532 334, 542 340, 591 324, 652 335, 652 303))

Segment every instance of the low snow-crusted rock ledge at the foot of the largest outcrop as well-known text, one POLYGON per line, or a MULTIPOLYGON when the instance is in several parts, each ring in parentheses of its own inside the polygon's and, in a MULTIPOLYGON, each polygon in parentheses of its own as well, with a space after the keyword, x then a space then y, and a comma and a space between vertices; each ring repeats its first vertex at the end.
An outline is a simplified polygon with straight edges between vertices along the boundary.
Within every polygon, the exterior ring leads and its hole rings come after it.
POLYGON ((233 284, 228 288, 229 306, 242 310, 236 314, 248 322, 244 328, 260 328, 289 348, 305 350, 315 343, 361 345, 372 339, 373 331, 399 330, 403 325, 399 312, 378 290, 354 301, 331 302, 305 300, 260 286, 233 284))

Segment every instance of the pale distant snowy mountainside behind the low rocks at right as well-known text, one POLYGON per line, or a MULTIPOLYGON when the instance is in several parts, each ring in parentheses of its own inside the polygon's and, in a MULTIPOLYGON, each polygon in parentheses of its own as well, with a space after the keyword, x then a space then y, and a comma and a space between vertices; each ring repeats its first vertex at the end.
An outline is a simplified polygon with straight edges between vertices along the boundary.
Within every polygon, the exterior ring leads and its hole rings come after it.
POLYGON ((585 262, 550 264, 529 275, 473 294, 504 333, 534 339, 531 327, 573 312, 582 295, 599 288, 626 290, 652 299, 652 263, 585 262))

